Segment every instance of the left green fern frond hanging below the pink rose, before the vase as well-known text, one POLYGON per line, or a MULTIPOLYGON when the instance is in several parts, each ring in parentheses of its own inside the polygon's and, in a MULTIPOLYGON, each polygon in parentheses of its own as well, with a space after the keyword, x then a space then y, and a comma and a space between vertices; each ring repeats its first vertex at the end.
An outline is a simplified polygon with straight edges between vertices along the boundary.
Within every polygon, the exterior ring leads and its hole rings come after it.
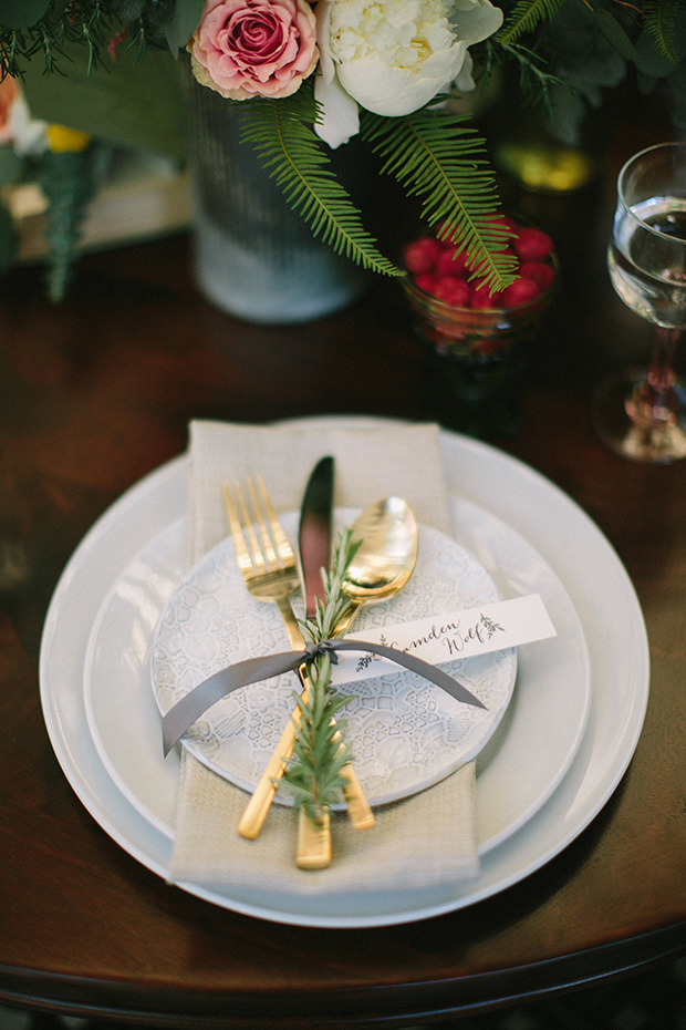
POLYGON ((377 249, 358 209, 339 183, 325 144, 312 127, 316 110, 312 92, 302 86, 283 100, 250 101, 241 107, 241 138, 256 148, 287 202, 310 224, 314 236, 363 268, 402 276, 403 271, 377 249))

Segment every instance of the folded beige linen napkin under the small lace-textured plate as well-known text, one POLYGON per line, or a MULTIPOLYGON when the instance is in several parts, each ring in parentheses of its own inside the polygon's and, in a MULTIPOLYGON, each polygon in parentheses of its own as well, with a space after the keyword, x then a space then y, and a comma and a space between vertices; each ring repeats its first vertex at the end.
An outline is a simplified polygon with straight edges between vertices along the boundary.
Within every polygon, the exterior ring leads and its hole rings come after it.
MULTIPOLYGON (((335 457, 336 506, 365 507, 396 494, 418 523, 450 533, 436 425, 198 421, 190 426, 189 562, 228 535, 224 484, 259 473, 278 512, 298 509, 310 471, 325 454, 335 457)), ((355 831, 345 812, 332 813, 333 862, 320 871, 295 866, 290 807, 272 804, 256 841, 239 836, 248 797, 183 750, 170 882, 239 889, 278 884, 316 895, 458 884, 478 874, 474 762, 419 794, 377 807, 372 830, 355 831)))

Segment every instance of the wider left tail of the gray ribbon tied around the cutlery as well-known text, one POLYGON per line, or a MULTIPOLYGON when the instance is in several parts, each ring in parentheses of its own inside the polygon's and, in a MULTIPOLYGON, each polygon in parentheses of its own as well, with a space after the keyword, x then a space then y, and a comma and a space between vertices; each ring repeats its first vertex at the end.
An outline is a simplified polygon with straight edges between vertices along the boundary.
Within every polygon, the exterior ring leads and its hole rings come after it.
POLYGON ((165 758, 196 719, 199 719, 216 701, 249 683, 258 683, 260 680, 292 672, 308 658, 309 653, 309 651, 278 651, 276 655, 267 655, 263 658, 247 658, 202 680, 163 715, 162 742, 165 758))

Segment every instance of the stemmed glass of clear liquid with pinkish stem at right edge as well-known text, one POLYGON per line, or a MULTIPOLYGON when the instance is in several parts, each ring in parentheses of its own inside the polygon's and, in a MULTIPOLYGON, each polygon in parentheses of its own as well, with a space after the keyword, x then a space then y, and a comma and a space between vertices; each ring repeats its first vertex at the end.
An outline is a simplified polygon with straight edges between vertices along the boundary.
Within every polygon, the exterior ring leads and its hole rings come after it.
POLYGON ((596 429, 636 461, 686 457, 686 390, 674 371, 686 329, 686 143, 651 146, 620 172, 607 267, 616 292, 656 326, 656 337, 647 370, 599 389, 596 429))

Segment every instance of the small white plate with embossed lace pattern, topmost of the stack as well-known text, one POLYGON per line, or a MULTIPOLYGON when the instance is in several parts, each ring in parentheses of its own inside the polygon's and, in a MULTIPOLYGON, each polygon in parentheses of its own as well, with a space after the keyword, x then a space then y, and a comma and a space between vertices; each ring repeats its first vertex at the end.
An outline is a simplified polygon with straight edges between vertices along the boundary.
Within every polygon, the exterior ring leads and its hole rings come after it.
MULTIPOLYGON (((357 513, 335 514, 341 528, 357 513)), ((298 513, 282 522, 293 540, 298 513)), ((363 608, 355 630, 492 600, 497 600, 496 587, 476 558, 443 533, 422 526, 417 566, 408 585, 393 600, 363 608)), ((191 569, 162 616, 153 648, 157 704, 166 712, 230 662, 288 647, 276 605, 248 594, 233 544, 226 539, 191 569)), ((441 668, 459 676, 487 710, 460 704, 406 671, 341 687, 352 694, 344 710, 346 738, 372 804, 397 801, 449 775, 478 753, 502 718, 514 686, 513 649, 441 668)), ((289 719, 297 688, 297 677, 289 673, 236 691, 195 723, 185 745, 219 775, 252 791, 289 719)), ((277 801, 288 804, 287 792, 280 791, 277 801)))

